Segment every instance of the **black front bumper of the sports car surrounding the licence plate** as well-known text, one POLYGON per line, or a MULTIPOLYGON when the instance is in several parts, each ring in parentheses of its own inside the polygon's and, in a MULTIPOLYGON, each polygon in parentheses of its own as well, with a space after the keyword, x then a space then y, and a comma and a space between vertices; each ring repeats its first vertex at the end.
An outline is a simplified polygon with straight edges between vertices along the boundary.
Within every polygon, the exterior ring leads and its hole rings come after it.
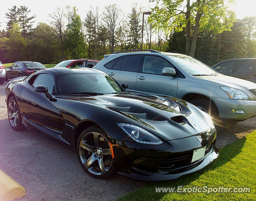
POLYGON ((171 180, 200 170, 218 157, 216 133, 199 142, 197 136, 165 141, 160 145, 118 141, 114 160, 121 175, 137 180, 171 180), (191 162, 195 149, 206 146, 204 157, 191 162), (117 154, 116 154, 117 153, 117 154))

